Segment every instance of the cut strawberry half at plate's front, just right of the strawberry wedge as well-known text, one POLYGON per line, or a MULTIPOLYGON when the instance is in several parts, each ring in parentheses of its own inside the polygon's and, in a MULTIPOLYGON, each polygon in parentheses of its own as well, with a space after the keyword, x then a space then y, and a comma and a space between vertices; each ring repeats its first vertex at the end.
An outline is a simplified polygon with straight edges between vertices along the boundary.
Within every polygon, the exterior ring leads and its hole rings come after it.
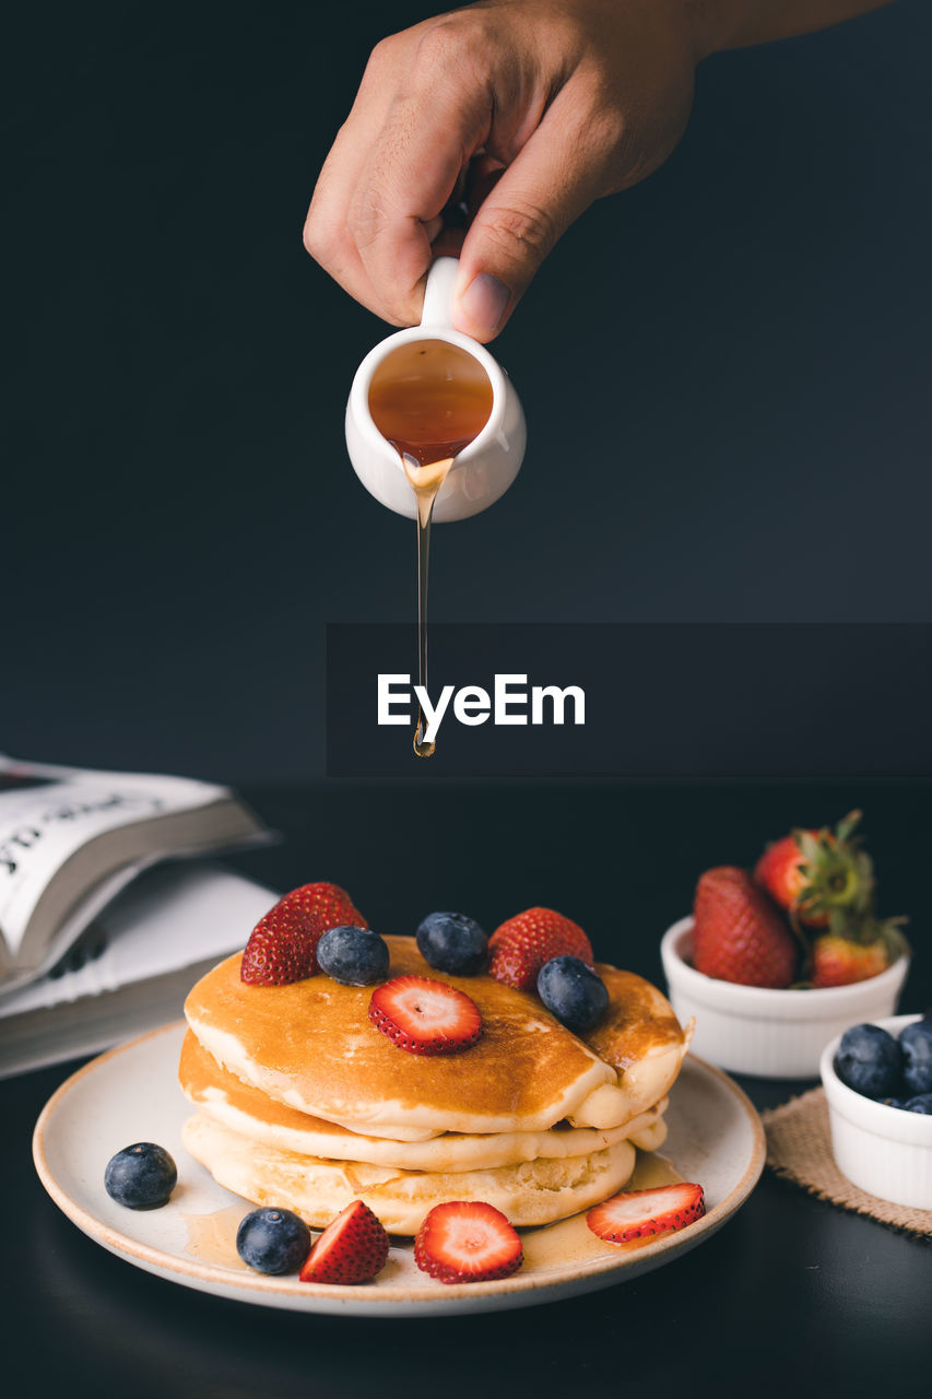
POLYGON ((484 1200, 446 1200, 428 1213, 414 1240, 414 1262, 441 1283, 511 1277, 525 1260, 521 1238, 484 1200))

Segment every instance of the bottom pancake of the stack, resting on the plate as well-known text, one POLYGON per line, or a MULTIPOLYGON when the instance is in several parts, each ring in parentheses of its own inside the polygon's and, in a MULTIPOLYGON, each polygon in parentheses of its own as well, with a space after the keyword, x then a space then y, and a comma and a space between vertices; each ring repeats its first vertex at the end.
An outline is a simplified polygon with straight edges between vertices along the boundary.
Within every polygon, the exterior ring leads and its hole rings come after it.
POLYGON ((617 1142, 584 1156, 493 1170, 400 1171, 283 1151, 203 1114, 189 1118, 182 1139, 220 1185, 256 1205, 294 1210, 323 1228, 361 1199, 390 1234, 416 1234, 442 1200, 486 1200, 515 1226, 550 1224, 621 1189, 635 1163, 631 1143, 617 1142))

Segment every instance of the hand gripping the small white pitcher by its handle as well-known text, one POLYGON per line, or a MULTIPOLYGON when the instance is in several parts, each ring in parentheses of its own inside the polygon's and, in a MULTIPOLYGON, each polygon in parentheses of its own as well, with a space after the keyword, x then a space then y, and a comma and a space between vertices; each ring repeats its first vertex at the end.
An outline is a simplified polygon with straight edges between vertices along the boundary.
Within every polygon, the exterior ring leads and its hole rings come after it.
POLYGON ((305 246, 393 325, 459 255, 453 325, 488 341, 578 215, 679 141, 691 0, 481 0, 383 39, 327 155, 305 246), (465 201, 466 231, 445 224, 465 201))

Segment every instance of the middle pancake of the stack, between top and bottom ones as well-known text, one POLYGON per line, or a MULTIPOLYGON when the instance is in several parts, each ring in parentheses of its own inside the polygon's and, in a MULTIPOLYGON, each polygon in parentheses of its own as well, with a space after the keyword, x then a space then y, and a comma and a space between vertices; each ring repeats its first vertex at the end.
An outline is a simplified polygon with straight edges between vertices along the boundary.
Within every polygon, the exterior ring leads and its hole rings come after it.
POLYGON ((561 1160, 600 1151, 623 1140, 652 1151, 666 1136, 666 1100, 631 1122, 606 1132, 563 1125, 544 1132, 498 1132, 484 1136, 445 1132, 427 1142, 361 1136, 334 1122, 299 1112, 243 1083, 223 1069, 190 1030, 182 1045, 178 1077, 188 1101, 200 1108, 204 1116, 252 1142, 298 1156, 361 1161, 409 1171, 458 1172, 518 1165, 540 1157, 561 1160))

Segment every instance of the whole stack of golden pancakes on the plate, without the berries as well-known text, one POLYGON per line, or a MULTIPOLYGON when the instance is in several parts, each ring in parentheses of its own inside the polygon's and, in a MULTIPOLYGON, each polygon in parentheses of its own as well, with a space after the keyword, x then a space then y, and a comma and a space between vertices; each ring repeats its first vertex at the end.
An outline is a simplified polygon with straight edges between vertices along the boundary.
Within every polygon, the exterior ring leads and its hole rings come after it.
POLYGON ((369 1021, 371 986, 245 985, 228 957, 188 997, 179 1066, 199 1109, 185 1146, 221 1185, 318 1228, 357 1198, 392 1234, 416 1234, 442 1200, 549 1224, 621 1189, 635 1147, 661 1146, 687 1037, 648 982, 599 965, 610 1004, 582 1039, 536 996, 438 972, 413 937, 385 940, 389 977, 472 996, 479 1042, 407 1053, 369 1021))

